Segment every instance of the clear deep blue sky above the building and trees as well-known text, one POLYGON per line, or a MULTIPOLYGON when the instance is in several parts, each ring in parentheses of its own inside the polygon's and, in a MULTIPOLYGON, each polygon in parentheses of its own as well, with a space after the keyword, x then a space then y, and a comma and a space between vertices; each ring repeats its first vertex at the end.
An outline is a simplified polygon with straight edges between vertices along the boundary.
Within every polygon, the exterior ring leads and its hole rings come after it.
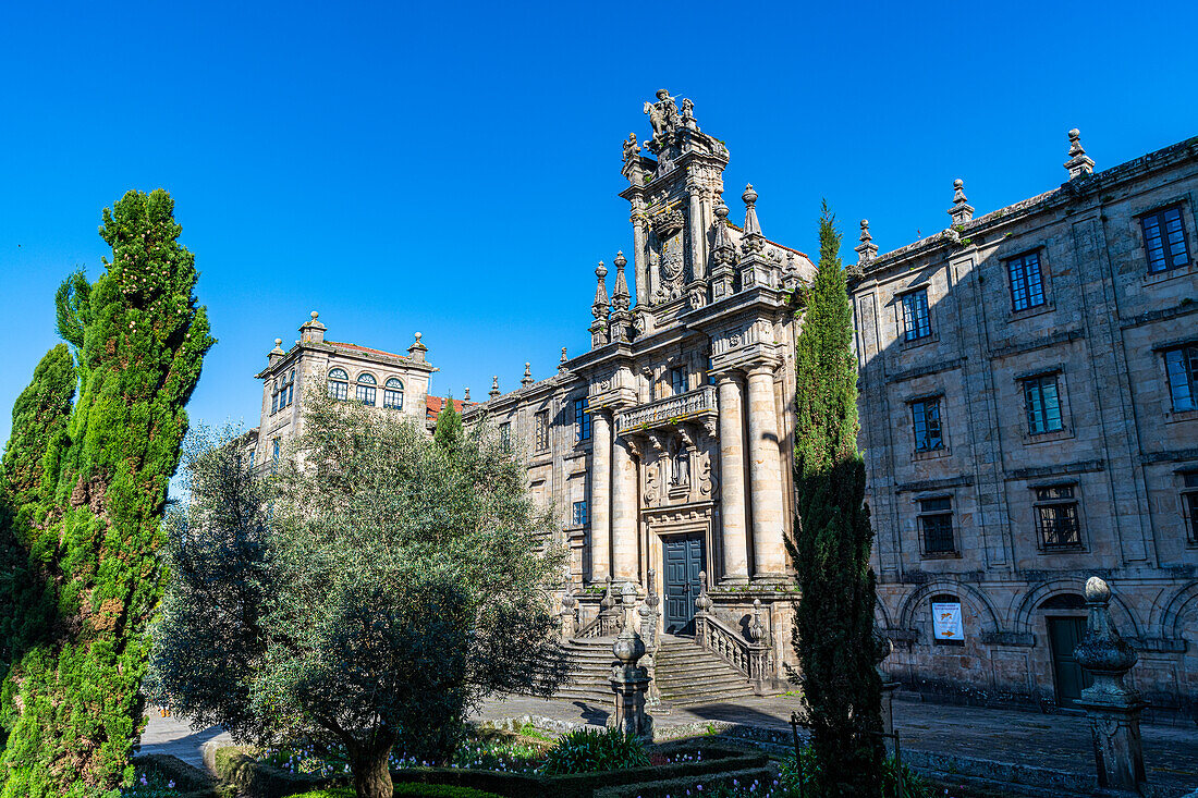
MULTIPOLYGON (((594 265, 629 250, 621 141, 654 90, 727 141, 766 235, 852 255, 1198 134, 1194 4, 8 4, 0 17, 0 440, 56 343, 54 289, 101 210, 164 187, 219 339, 193 421, 256 423, 276 337, 392 351, 485 395, 588 345, 594 265)), ((611 278, 609 278, 611 279, 611 278)))

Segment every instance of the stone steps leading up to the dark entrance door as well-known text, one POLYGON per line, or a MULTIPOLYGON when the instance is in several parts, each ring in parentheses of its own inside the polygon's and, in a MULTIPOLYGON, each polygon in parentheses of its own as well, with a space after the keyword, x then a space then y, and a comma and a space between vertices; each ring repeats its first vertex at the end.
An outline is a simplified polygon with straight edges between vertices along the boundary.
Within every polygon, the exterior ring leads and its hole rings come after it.
MULTIPOLYGON (((611 637, 571 640, 565 649, 577 665, 574 679, 557 691, 558 700, 607 707, 613 705, 611 637)), ((677 706, 725 703, 751 697, 752 687, 736 669, 690 637, 662 635, 657 652, 657 687, 661 700, 677 706)))

